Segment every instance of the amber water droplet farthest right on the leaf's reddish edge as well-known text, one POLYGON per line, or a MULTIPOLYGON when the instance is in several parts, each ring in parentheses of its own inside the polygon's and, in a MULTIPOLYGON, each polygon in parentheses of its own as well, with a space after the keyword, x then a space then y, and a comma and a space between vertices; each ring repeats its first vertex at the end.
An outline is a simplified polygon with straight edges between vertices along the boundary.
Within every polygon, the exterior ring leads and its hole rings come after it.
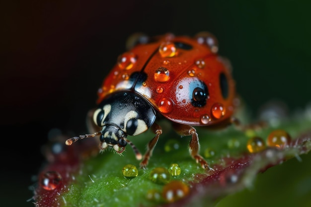
POLYGON ((284 148, 291 142, 290 135, 284 130, 274 130, 267 138, 267 145, 284 148))

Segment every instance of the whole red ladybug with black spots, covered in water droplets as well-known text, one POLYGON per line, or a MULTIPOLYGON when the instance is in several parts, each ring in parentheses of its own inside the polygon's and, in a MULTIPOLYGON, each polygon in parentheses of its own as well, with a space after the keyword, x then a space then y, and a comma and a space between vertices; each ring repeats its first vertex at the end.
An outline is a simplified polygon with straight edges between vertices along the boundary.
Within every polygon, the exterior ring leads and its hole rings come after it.
POLYGON ((203 168, 209 167, 199 154, 199 138, 194 127, 223 127, 233 122, 235 83, 231 67, 217 54, 218 41, 209 32, 194 37, 165 34, 130 38, 128 52, 104 79, 98 91, 93 123, 100 128, 100 149, 113 147, 122 153, 129 143, 141 168, 146 168, 162 134, 158 120, 166 119, 181 136, 191 136, 189 152, 203 168), (142 156, 127 138, 151 129, 155 137, 142 156))

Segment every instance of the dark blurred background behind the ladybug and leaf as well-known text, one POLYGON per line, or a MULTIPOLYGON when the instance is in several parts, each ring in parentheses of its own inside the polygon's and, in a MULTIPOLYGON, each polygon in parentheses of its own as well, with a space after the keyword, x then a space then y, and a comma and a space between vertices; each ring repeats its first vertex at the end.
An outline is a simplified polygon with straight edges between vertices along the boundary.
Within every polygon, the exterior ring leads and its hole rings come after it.
POLYGON ((210 31, 253 116, 311 101, 311 1, 28 0, 0 3, 1 202, 26 203, 48 132, 86 133, 97 89, 135 32, 210 31), (26 166, 26 167, 25 167, 26 166))

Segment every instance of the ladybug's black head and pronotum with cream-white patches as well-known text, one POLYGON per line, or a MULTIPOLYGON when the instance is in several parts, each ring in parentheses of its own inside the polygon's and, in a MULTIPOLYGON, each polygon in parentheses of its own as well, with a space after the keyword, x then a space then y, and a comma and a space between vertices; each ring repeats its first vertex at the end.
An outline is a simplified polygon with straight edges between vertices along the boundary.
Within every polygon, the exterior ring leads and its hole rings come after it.
POLYGON ((109 95, 99 104, 93 120, 102 127, 101 148, 113 146, 120 153, 127 144, 127 135, 136 136, 147 131, 156 120, 156 112, 140 95, 121 91, 109 95))

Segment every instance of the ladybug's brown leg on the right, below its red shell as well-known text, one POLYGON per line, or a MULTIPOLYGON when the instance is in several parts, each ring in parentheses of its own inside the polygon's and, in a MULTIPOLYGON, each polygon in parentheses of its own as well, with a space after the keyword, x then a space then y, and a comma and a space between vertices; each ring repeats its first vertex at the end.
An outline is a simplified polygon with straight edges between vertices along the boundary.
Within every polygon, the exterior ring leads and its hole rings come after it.
POLYGON ((188 126, 188 125, 181 125, 177 123, 173 123, 173 128, 176 133, 181 136, 191 136, 190 144, 189 144, 189 153, 193 159, 196 160, 197 163, 200 163, 202 168, 211 171, 214 169, 211 168, 204 158, 199 154, 200 151, 200 143, 199 143, 199 136, 195 128, 188 126))

